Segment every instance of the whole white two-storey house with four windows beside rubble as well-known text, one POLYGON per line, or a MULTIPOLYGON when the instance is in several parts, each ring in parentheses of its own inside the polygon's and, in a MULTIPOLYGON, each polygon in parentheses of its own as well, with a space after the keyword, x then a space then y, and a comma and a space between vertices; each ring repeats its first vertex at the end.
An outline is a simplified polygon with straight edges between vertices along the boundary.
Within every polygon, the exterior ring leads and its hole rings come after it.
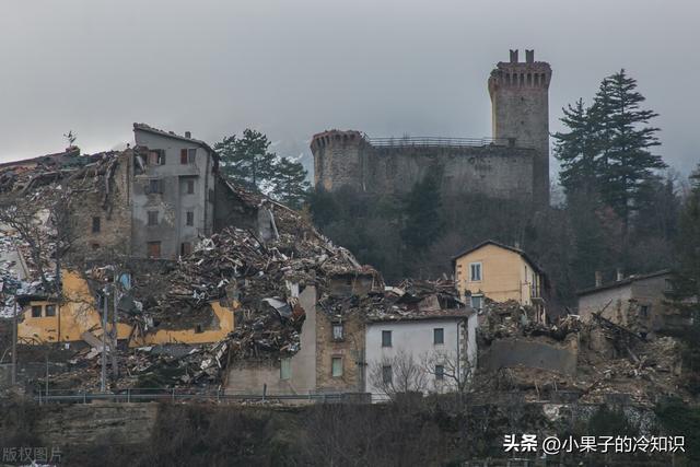
POLYGON ((464 308, 370 320, 366 390, 374 400, 393 393, 458 390, 476 369, 476 328, 477 314, 464 308))

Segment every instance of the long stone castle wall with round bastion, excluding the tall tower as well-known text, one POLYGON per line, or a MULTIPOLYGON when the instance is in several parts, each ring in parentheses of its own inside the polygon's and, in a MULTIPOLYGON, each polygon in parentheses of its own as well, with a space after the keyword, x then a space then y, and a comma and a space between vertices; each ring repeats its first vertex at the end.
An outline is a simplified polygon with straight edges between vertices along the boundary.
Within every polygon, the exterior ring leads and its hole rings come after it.
POLYGON ((502 199, 533 197, 534 149, 495 144, 373 147, 357 131, 331 131, 314 138, 312 151, 316 187, 328 191, 349 186, 377 195, 402 194, 434 171, 447 197, 466 194, 502 199), (354 138, 350 137, 352 133, 354 138), (318 138, 324 138, 324 142, 319 143, 318 138))

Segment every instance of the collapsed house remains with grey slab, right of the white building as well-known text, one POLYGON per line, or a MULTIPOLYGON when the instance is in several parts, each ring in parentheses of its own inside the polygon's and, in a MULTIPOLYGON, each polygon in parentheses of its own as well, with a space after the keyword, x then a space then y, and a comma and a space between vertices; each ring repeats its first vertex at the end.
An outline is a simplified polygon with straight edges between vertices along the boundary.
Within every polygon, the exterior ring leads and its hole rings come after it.
POLYGON ((515 301, 486 304, 476 393, 644 406, 672 396, 691 398, 680 384, 678 339, 649 338, 599 311, 590 320, 569 315, 552 325, 534 316, 515 301))

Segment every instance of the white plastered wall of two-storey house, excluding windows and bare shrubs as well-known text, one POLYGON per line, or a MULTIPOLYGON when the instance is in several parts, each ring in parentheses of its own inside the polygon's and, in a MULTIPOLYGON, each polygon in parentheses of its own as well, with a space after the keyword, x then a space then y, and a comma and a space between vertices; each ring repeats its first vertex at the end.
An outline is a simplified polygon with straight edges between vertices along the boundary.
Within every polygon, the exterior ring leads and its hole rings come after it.
POLYGON ((377 387, 373 378, 373 369, 390 361, 401 352, 410 355, 416 365, 420 366, 427 382, 425 393, 445 393, 456 389, 456 383, 450 377, 442 382, 435 380, 433 373, 424 367, 427 360, 439 361, 441 359, 451 362, 462 362, 460 375, 467 375, 469 366, 476 367, 477 315, 470 314, 465 318, 435 318, 413 319, 400 322, 369 323, 365 334, 365 382, 366 390, 373 394, 373 398, 383 399, 383 389, 377 387), (444 329, 444 343, 433 343, 433 330, 444 329), (382 347, 382 331, 392 331, 392 347, 382 347), (468 363, 467 363, 468 362, 468 363))

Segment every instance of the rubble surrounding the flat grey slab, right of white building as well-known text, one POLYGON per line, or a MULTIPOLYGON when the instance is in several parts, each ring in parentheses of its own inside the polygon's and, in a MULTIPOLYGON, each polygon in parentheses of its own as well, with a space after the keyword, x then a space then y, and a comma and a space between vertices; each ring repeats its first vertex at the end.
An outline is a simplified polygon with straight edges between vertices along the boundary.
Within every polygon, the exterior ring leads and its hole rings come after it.
MULTIPOLYGON (((517 302, 489 302, 477 334, 479 352, 499 339, 534 340, 576 352, 575 374, 522 365, 480 372, 477 392, 522 392, 526 399, 546 400, 573 395, 581 402, 611 398, 653 405, 660 397, 689 395, 680 388, 679 341, 673 337, 642 337, 594 315, 583 323, 576 315, 556 324, 534 323, 517 302)), ((616 399, 616 400, 617 400, 616 399)))

